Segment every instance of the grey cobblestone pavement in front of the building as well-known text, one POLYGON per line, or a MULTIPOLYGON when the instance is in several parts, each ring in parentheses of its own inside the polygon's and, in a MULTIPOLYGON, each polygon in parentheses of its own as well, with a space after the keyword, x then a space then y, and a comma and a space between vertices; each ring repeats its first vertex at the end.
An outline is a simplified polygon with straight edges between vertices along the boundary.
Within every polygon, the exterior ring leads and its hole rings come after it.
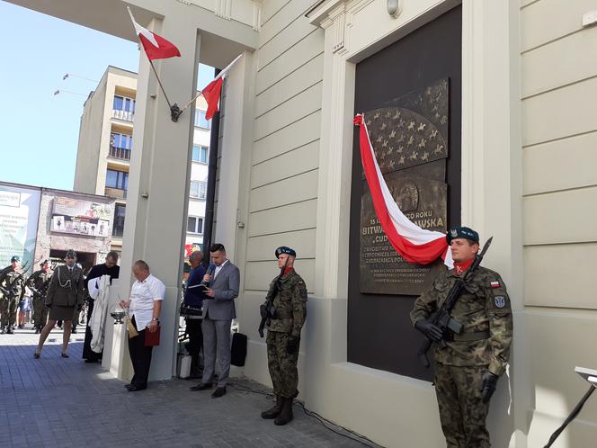
POLYGON ((325 429, 298 404, 289 425, 274 426, 260 417, 270 399, 230 386, 220 399, 190 391, 194 382, 183 380, 127 392, 100 364, 83 362, 83 334, 71 336, 69 358, 60 357, 62 331, 54 329, 34 359, 38 338, 31 329, 0 335, 0 447, 364 446, 325 429))

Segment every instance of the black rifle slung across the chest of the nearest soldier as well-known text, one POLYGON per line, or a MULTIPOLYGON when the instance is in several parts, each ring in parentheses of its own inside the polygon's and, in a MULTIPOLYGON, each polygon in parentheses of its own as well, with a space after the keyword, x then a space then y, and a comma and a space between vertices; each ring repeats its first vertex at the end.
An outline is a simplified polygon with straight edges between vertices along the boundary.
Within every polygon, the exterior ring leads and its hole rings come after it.
MULTIPOLYGON (((464 275, 464 278, 456 278, 456 282, 452 286, 452 289, 448 293, 448 297, 446 300, 441 304, 440 309, 438 309, 430 319, 430 322, 441 329, 441 333, 443 338, 441 338, 437 344, 440 345, 442 348, 446 346, 446 341, 444 338, 449 335, 448 330, 452 333, 459 335, 462 331, 462 324, 457 321, 456 319, 450 316, 452 309, 456 305, 456 302, 459 300, 460 294, 462 291, 467 287, 467 283, 472 279, 473 275, 475 275, 475 271, 477 271, 477 267, 483 261, 483 257, 485 256, 487 249, 491 246, 491 241, 494 237, 490 237, 487 241, 485 246, 483 246, 483 250, 480 254, 475 256, 475 261, 470 265, 468 268, 467 273, 464 275)), ((429 349, 432 348, 433 340, 427 336, 425 336, 425 340, 423 341, 423 345, 419 349, 419 359, 421 363, 425 367, 429 367, 429 358, 427 357, 427 352, 429 349)))

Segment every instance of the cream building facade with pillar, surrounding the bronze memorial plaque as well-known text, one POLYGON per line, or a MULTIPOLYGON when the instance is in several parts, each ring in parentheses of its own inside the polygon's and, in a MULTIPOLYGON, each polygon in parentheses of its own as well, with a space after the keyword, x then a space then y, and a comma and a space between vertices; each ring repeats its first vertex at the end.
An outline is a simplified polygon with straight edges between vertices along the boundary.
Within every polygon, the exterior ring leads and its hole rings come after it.
MULTIPOLYGON (((72 8, 64 0, 13 3, 136 39, 116 0, 88 0, 88 8, 75 0, 67 2, 72 8), (102 7, 121 10, 122 20, 116 13, 102 20, 93 13, 102 7)), ((270 383, 258 306, 276 273, 275 247, 292 246, 309 291, 299 399, 385 446, 442 446, 443 437, 432 382, 414 367, 412 298, 356 297, 349 286, 361 188, 352 118, 450 79, 450 126, 457 128, 450 128, 447 225, 494 237, 485 265, 502 274, 514 313, 511 365, 492 400, 489 429, 495 446, 546 444, 586 389, 575 365, 597 367, 597 179, 589 168, 597 161, 597 63, 585 57, 597 30, 583 25, 593 2, 127 3, 181 50, 157 67, 177 97, 192 96, 199 61, 226 67, 244 54, 222 100, 215 217, 215 240, 242 273, 236 302, 249 337, 244 374, 270 383)), ((163 335, 174 340, 180 269, 173 266, 185 240, 193 120, 170 120, 143 54, 136 99, 127 198, 134 212, 122 264, 143 257, 165 281, 163 335)), ((160 346, 154 360, 152 377, 171 377, 174 344, 160 346)), ((558 446, 593 446, 596 428, 592 402, 558 446)))

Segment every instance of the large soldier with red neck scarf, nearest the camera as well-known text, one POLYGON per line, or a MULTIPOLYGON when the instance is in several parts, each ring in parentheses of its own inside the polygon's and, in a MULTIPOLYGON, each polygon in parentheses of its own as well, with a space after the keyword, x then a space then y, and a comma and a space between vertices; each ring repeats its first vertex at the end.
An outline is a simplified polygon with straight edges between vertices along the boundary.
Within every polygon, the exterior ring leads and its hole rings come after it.
POLYGON ((444 335, 428 320, 457 279, 466 275, 479 250, 479 235, 471 228, 452 228, 446 239, 454 268, 440 273, 414 302, 411 320, 432 341, 446 342, 444 347, 435 345, 434 355, 435 393, 447 446, 486 448, 489 399, 510 356, 512 309, 500 274, 479 266, 451 312, 462 332, 444 335))

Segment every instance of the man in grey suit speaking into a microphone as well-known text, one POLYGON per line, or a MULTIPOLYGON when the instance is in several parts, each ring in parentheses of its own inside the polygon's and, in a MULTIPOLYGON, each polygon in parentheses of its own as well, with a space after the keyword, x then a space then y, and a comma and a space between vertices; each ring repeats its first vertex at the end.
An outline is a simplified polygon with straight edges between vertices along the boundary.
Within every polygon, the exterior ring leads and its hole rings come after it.
POLYGON ((216 366, 216 348, 219 358, 218 387, 211 394, 217 399, 226 393, 230 373, 230 325, 236 318, 235 298, 240 286, 238 268, 226 257, 226 248, 221 244, 209 247, 209 255, 215 266, 210 265, 203 276, 203 283, 209 288, 203 300, 203 377, 191 390, 210 390, 216 366), (211 300, 209 300, 209 298, 211 300))

